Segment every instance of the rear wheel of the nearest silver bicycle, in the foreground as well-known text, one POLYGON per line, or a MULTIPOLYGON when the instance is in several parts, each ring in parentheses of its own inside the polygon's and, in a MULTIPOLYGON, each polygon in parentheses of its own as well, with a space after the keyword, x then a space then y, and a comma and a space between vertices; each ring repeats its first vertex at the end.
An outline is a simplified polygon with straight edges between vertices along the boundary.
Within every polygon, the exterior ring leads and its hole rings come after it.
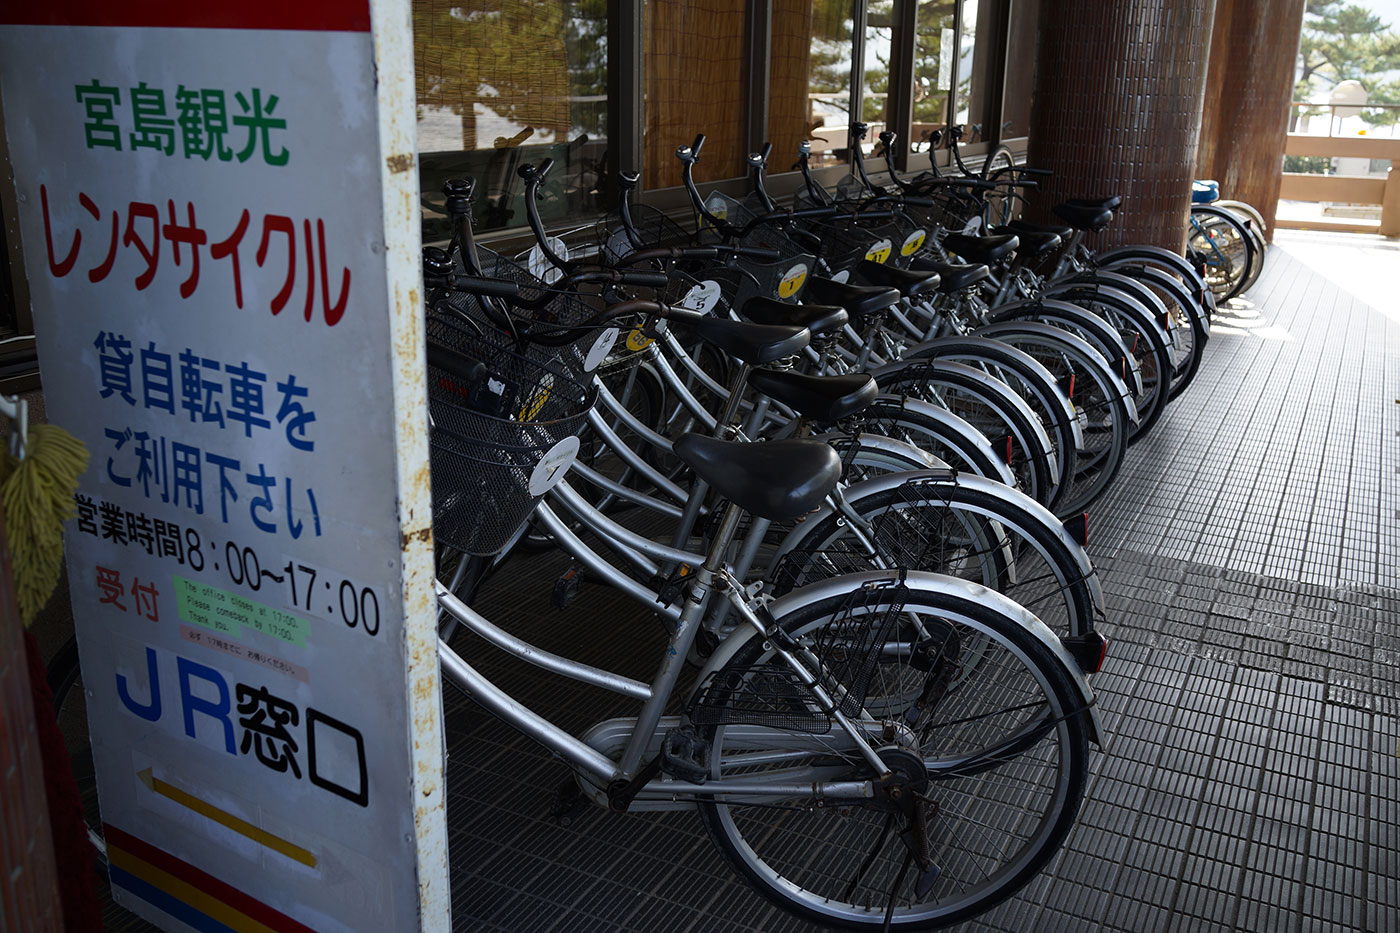
MULTIPOLYGON (((888 720, 896 738, 878 754, 917 806, 892 807, 879 790, 714 797, 700 803, 711 838, 763 897, 829 927, 925 930, 1007 899, 1054 856, 1084 797, 1084 700, 1033 633, 1039 623, 1004 597, 934 574, 904 584, 858 574, 812 590, 830 595, 774 604, 780 625, 804 664, 841 691, 843 709, 888 720)), ((755 637, 707 678, 711 775, 868 779, 868 763, 797 714, 805 705, 780 665, 755 637), (769 727, 767 745, 755 747, 753 726, 769 727)))

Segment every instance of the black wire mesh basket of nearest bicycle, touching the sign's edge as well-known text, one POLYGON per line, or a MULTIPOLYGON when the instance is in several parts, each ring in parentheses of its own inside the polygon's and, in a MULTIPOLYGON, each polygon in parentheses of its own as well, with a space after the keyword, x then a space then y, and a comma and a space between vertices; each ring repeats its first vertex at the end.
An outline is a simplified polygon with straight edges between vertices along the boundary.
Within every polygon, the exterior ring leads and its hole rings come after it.
POLYGON ((473 555, 498 552, 529 518, 577 450, 595 395, 559 360, 518 353, 503 338, 428 310, 433 532, 473 555), (454 371, 431 363, 434 347, 454 371))

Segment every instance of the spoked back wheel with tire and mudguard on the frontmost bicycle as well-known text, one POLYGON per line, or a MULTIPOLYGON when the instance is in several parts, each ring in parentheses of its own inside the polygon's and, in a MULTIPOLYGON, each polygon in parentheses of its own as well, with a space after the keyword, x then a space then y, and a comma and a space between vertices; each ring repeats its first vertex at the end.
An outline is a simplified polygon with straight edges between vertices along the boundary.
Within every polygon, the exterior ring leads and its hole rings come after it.
MULTIPOLYGON (((904 850, 889 836, 895 817, 874 803, 813 807, 799 800, 785 808, 710 797, 700 801, 701 822, 739 877, 806 920, 853 930, 925 930, 966 920, 1030 881, 1074 825, 1088 761, 1085 717, 1078 714, 1084 700, 1063 661, 1032 633, 1033 616, 1004 597, 946 586, 932 574, 910 574, 902 586, 893 574, 860 574, 841 584, 860 588, 791 611, 780 608, 778 625, 819 677, 850 670, 826 661, 864 649, 878 625, 889 625, 890 633, 874 636, 875 650, 882 661, 886 654, 893 660, 878 665, 876 698, 930 682, 935 671, 948 677, 962 644, 979 646, 976 667, 918 712, 909 730, 914 748, 904 749, 938 775, 927 783, 935 813, 916 808, 907 821, 921 834, 932 831, 934 838, 924 839, 931 860, 937 859, 937 877, 921 892, 902 884, 904 850), (916 619, 924 637, 911 643, 906 632, 916 619), (886 651, 890 640, 895 650, 886 651), (938 654, 928 674, 906 663, 906 644, 925 642, 938 654), (1021 706, 1029 709, 1015 709, 1021 706), (979 827, 976 839, 963 835, 972 825, 979 827), (900 898, 904 887, 916 890, 900 898)), ((721 709, 742 716, 741 705, 769 684, 770 658, 771 644, 757 637, 729 657, 715 672, 721 709)), ((801 735, 745 755, 725 745, 729 728, 735 727, 714 724, 703 731, 715 779, 816 769, 860 779, 869 770, 864 762, 853 766, 840 755, 813 751, 801 735), (780 761, 764 763, 760 756, 780 761)), ((777 730, 771 735, 783 737, 777 730)), ((882 751, 890 761, 900 758, 897 748, 882 751)), ((924 878, 931 874, 925 871, 924 878)))

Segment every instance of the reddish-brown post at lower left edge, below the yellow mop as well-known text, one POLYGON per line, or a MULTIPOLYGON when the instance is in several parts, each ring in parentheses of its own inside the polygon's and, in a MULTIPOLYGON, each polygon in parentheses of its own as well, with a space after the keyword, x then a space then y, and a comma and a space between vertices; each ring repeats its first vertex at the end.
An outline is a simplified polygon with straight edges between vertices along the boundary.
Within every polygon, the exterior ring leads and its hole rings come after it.
POLYGON ((0 930, 62 930, 24 626, 0 517, 0 930))

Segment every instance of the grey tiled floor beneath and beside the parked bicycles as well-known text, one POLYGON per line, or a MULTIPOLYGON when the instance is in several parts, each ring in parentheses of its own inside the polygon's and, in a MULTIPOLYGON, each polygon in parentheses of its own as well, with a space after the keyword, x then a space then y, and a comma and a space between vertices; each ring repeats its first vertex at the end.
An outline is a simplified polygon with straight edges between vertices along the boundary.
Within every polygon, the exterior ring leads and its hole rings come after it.
MULTIPOLYGON (((1079 822, 966 929, 1400 929, 1397 283, 1396 241, 1280 233, 1221 310, 1091 514, 1113 646, 1079 822)), ((650 679, 659 626, 602 587, 550 608, 552 560, 503 570, 487 615, 650 679)), ((458 647, 566 726, 627 710, 458 647)), ((566 768, 451 688, 447 709, 455 929, 809 929, 734 881, 693 814, 557 825, 566 768)))

